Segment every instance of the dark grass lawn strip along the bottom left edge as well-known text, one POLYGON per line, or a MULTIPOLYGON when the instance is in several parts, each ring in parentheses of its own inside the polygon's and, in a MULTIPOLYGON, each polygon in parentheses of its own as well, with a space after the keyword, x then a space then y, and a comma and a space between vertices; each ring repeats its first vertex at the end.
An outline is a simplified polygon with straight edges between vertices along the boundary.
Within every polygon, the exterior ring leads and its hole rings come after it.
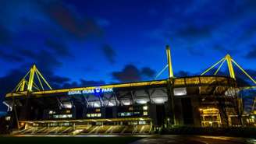
POLYGON ((142 137, 0 137, 1 144, 128 144, 142 137))

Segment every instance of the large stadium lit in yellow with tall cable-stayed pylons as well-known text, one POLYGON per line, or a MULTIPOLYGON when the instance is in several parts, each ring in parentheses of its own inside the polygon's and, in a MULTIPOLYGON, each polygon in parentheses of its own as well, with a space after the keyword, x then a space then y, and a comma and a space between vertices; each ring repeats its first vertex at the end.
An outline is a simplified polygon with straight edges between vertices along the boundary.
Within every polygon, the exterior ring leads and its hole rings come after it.
POLYGON ((256 100, 244 114, 239 94, 254 87, 240 87, 233 66, 255 80, 229 54, 201 76, 175 77, 169 46, 166 53, 167 79, 62 90, 52 90, 33 65, 5 96, 8 128, 32 135, 144 135, 173 126, 255 126, 256 100), (225 62, 229 76, 218 76, 225 62))

